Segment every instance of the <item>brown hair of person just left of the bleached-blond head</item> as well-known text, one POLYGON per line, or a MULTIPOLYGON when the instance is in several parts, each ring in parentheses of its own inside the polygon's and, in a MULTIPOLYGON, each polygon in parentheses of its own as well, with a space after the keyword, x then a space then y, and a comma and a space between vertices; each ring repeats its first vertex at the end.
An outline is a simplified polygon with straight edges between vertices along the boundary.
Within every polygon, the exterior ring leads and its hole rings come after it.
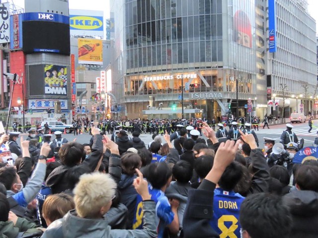
POLYGON ((50 222, 63 218, 70 210, 75 208, 73 197, 65 193, 48 196, 42 208, 43 217, 50 222))

